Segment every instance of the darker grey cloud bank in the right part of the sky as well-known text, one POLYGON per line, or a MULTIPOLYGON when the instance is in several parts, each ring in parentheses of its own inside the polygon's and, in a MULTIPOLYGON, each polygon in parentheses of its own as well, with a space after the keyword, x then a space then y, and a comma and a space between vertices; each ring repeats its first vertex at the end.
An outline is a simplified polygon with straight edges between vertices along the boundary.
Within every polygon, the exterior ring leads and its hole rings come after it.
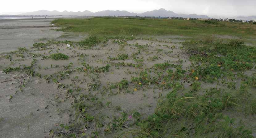
POLYGON ((256 0, 162 0, 161 6, 175 12, 238 16, 255 15, 256 0))

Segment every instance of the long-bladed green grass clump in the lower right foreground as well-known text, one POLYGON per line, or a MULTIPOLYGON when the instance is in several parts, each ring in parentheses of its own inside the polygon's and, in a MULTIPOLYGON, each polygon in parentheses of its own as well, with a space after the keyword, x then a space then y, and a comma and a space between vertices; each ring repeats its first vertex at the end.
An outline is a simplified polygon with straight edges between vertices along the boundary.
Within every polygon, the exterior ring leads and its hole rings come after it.
MULTIPOLYGON (((236 105, 236 101, 229 93, 207 94, 198 98, 192 97, 189 93, 178 96, 179 87, 180 85, 175 87, 163 100, 160 100, 154 114, 136 124, 140 131, 134 133, 131 131, 131 133, 142 138, 181 136, 182 134, 187 135, 182 135, 182 137, 196 138, 253 137, 250 129, 247 129, 243 124, 237 127, 234 123, 235 119, 223 114, 227 107, 236 105), (183 121, 186 122, 183 123, 183 121), (172 131, 166 131, 166 128, 172 131)), ((254 112, 254 104, 252 104, 251 109, 254 112)))

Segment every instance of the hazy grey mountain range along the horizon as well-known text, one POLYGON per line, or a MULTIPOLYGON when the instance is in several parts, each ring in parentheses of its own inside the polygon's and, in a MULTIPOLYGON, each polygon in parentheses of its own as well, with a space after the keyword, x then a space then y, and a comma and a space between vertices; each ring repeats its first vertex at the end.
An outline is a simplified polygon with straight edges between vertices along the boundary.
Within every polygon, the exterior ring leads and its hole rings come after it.
POLYGON ((154 17, 183 17, 183 18, 210 18, 207 15, 197 15, 197 14, 176 14, 170 10, 165 10, 165 9, 159 9, 159 10, 152 10, 152 11, 147 11, 141 14, 137 13, 130 13, 125 10, 103 10, 99 12, 91 12, 89 10, 85 10, 83 12, 68 12, 68 11, 63 11, 59 12, 56 10, 53 11, 48 11, 48 10, 38 10, 34 12, 27 12, 19 15, 48 15, 48 16, 57 16, 57 15, 62 15, 62 16, 154 16, 154 17))

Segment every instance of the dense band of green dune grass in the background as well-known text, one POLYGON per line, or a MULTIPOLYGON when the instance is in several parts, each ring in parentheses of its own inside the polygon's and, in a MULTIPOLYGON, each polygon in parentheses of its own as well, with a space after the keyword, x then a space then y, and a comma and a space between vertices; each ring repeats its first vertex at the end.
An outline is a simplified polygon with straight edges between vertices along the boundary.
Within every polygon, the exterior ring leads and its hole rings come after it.
POLYGON ((176 19, 89 18, 56 19, 52 23, 63 27, 58 31, 84 32, 97 35, 232 35, 252 37, 256 26, 248 23, 214 22, 176 19))

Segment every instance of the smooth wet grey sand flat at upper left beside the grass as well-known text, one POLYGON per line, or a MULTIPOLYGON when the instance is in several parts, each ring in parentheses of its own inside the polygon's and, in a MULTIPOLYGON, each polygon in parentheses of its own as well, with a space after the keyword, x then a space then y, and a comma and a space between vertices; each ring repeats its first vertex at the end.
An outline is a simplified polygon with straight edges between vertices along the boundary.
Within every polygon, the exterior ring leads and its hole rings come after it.
MULTIPOLYGON (((47 40, 63 41, 64 32, 57 32, 52 27, 54 18, 46 19, 6 19, 0 20, 0 53, 18 49, 18 47, 32 47, 35 42, 47 40)), ((86 34, 72 34, 68 40, 79 41, 86 34)))

